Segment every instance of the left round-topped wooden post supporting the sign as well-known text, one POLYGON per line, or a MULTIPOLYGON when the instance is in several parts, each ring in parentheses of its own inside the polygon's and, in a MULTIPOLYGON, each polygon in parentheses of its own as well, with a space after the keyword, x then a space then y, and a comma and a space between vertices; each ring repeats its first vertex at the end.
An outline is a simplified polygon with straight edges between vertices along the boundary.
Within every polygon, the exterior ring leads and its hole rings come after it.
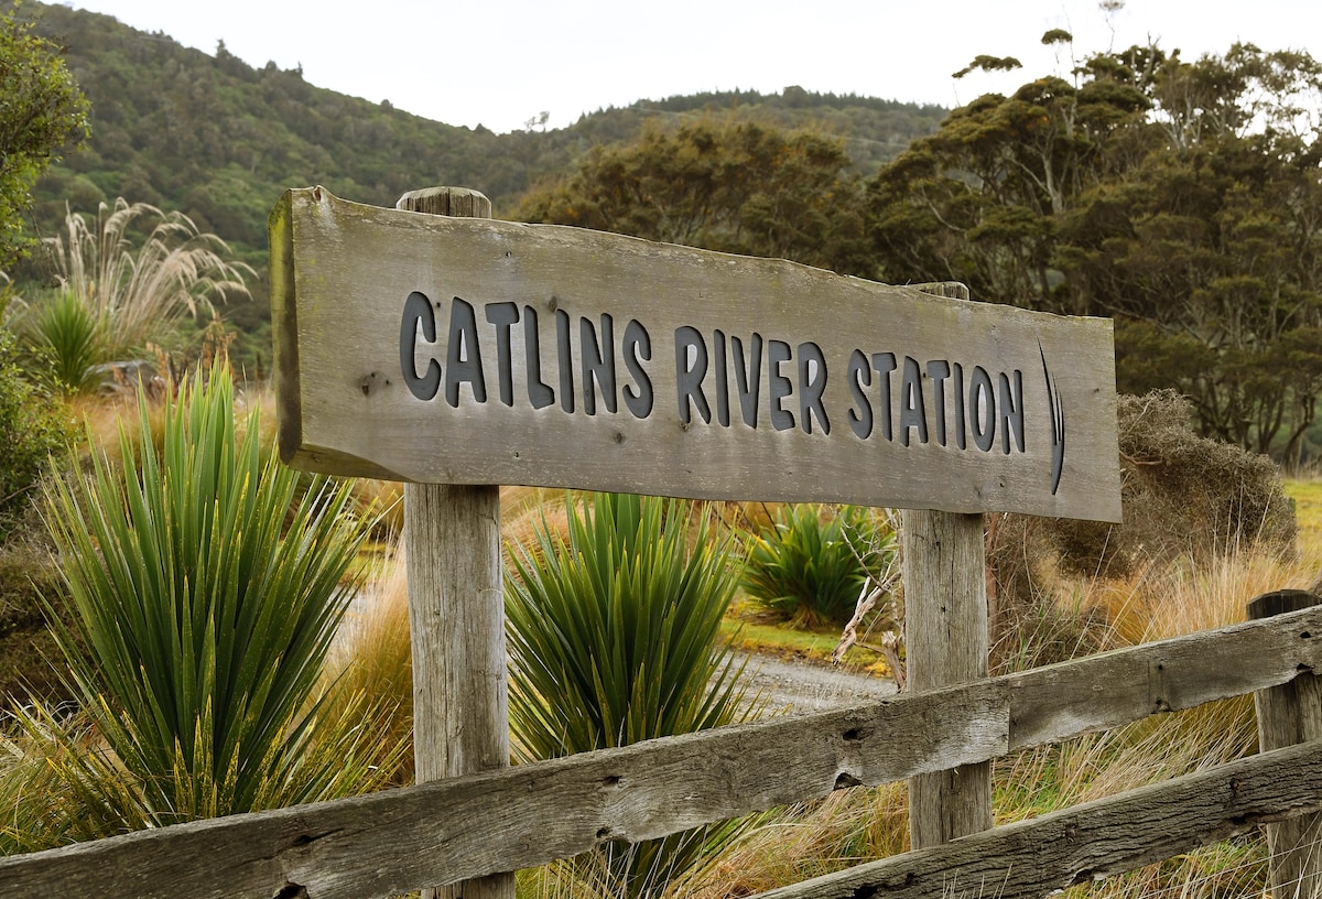
MULTIPOLYGON (((406 193, 397 209, 490 218, 464 188, 406 193)), ((416 783, 509 764, 500 487, 405 485, 416 783)), ((514 899, 514 875, 424 890, 423 899, 514 899)))

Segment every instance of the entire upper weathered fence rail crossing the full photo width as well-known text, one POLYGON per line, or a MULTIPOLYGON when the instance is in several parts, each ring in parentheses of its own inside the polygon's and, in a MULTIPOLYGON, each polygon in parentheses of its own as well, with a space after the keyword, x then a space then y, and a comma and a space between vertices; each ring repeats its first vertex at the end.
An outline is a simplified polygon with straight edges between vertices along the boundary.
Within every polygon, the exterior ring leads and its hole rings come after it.
MULTIPOLYGON (((603 840, 660 837, 842 787, 984 762, 1313 670, 1322 670, 1322 608, 846 710, 4 858, 0 899, 398 895, 542 865, 603 840)), ((1300 801, 1243 814, 1257 822, 1305 810, 1300 801)), ((1013 841, 1021 832, 1013 828, 965 840, 1013 841)), ((949 861, 951 851, 943 846, 932 858, 949 861)))

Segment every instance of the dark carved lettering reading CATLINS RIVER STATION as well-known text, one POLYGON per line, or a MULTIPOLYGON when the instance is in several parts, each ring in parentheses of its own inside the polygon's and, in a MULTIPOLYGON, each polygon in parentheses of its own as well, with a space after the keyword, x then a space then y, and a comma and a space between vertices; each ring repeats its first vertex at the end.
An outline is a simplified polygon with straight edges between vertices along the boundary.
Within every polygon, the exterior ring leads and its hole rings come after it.
MULTIPOLYGON (((1025 452, 1023 371, 976 360, 915 358, 900 348, 854 348, 829 357, 814 341, 758 331, 680 325, 660 332, 639 319, 551 313, 512 301, 432 300, 412 291, 399 325, 399 370, 414 397, 501 403, 576 415, 677 414, 682 427, 750 427, 829 436, 847 426, 861 440, 902 447, 1025 452), (669 353, 661 382, 656 365, 669 353), (833 378, 847 405, 830 407, 833 378)), ((1046 439, 1046 438, 1044 438, 1046 439)))

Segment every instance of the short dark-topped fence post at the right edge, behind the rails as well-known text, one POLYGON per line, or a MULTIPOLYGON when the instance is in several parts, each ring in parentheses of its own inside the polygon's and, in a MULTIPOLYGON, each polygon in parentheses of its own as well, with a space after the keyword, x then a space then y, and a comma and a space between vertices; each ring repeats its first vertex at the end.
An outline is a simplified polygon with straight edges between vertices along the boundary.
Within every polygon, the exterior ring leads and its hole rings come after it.
MULTIPOLYGON (((1322 604, 1305 590, 1278 590, 1248 604, 1249 619, 1265 619, 1322 604)), ((1259 750, 1280 750, 1322 739, 1322 676, 1301 672, 1289 684, 1253 694, 1259 750)), ((1322 896, 1322 814, 1301 814, 1266 825, 1272 854, 1272 895, 1276 899, 1322 896)))

